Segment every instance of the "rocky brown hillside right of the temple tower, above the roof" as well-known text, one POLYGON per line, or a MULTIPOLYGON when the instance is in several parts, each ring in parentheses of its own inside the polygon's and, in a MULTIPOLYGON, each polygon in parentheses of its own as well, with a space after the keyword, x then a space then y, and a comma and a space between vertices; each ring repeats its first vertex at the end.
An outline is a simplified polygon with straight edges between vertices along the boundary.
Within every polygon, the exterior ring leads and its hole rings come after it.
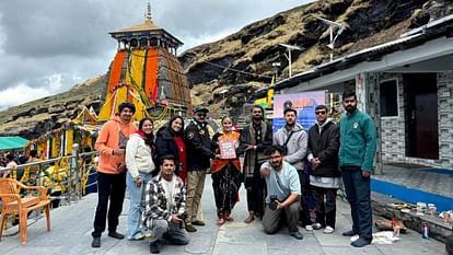
POLYGON ((280 44, 304 48, 292 50, 292 73, 329 60, 328 26, 317 18, 346 26, 335 44, 335 57, 398 38, 404 32, 453 12, 452 1, 426 0, 330 0, 316 1, 249 24, 219 42, 182 54, 196 102, 211 109, 241 107, 247 92, 264 86, 280 62, 279 78, 287 78, 287 49, 280 44), (219 92, 228 88, 225 95, 219 92), (224 97, 223 97, 224 96, 224 97), (225 98, 225 102, 223 102, 225 98))

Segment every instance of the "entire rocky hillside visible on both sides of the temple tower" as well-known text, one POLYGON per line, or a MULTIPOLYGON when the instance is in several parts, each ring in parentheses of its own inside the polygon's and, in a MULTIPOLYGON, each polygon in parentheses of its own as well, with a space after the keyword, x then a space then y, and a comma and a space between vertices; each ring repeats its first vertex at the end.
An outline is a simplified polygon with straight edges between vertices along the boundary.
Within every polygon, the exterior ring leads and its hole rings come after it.
MULTIPOLYGON (((452 12, 453 3, 448 0, 321 0, 257 21, 216 43, 186 50, 179 61, 187 71, 193 103, 205 103, 219 116, 220 106, 237 112, 251 92, 269 84, 276 71, 272 62, 281 65, 278 78, 288 77, 287 49, 280 44, 304 49, 291 53, 293 73, 328 61, 332 53, 326 46, 328 26, 317 18, 346 27, 335 44, 334 56, 340 57, 395 39, 430 19, 452 12)), ((35 137, 49 125, 73 118, 80 104, 94 105, 97 109, 105 86, 103 76, 68 92, 9 108, 0 113, 0 135, 35 137)))

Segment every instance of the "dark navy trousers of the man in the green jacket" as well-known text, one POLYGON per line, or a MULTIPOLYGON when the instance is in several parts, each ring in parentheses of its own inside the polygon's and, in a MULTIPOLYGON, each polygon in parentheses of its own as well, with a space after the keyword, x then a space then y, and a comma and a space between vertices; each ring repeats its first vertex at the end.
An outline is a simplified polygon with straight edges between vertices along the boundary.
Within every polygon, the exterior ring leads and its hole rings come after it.
POLYGON ((346 197, 351 207, 352 231, 360 237, 372 240, 370 177, 363 177, 360 166, 341 166, 346 197))

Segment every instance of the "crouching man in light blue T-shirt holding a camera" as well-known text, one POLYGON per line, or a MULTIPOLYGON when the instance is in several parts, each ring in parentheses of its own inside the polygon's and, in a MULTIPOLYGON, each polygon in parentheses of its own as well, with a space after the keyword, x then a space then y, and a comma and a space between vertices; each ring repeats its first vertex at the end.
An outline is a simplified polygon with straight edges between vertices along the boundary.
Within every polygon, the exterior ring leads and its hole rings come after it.
POLYGON ((266 178, 268 193, 263 227, 267 234, 275 234, 284 223, 282 221, 284 218, 290 235, 301 240, 303 235, 298 229, 301 184, 298 171, 282 160, 282 148, 272 146, 267 151, 269 160, 260 169, 262 175, 266 178))

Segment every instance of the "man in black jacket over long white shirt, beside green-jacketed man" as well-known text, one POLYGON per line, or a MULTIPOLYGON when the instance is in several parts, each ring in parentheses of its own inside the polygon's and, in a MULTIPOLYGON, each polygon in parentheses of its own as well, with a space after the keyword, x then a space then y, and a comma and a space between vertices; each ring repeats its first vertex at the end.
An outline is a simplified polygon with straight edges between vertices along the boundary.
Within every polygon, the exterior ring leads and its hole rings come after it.
POLYGON ((309 130, 307 159, 311 163, 310 184, 316 202, 314 229, 324 228, 324 233, 335 230, 336 196, 341 185, 338 171, 339 131, 332 118, 327 118, 327 107, 315 108, 316 124, 309 130))

